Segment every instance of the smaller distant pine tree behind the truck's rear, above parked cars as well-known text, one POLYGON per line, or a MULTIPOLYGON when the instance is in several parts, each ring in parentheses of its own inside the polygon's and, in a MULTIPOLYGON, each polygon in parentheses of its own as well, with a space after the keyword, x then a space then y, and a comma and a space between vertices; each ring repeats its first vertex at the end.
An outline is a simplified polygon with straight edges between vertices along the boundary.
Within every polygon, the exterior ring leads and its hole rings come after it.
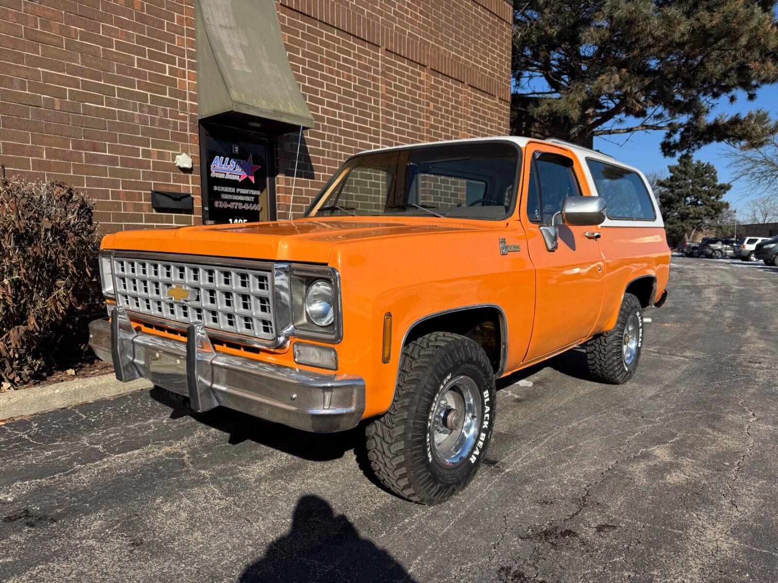
POLYGON ((693 240, 696 233, 729 208, 724 194, 731 184, 720 183, 715 166, 683 154, 668 166, 670 176, 657 181, 664 228, 671 244, 693 240))

